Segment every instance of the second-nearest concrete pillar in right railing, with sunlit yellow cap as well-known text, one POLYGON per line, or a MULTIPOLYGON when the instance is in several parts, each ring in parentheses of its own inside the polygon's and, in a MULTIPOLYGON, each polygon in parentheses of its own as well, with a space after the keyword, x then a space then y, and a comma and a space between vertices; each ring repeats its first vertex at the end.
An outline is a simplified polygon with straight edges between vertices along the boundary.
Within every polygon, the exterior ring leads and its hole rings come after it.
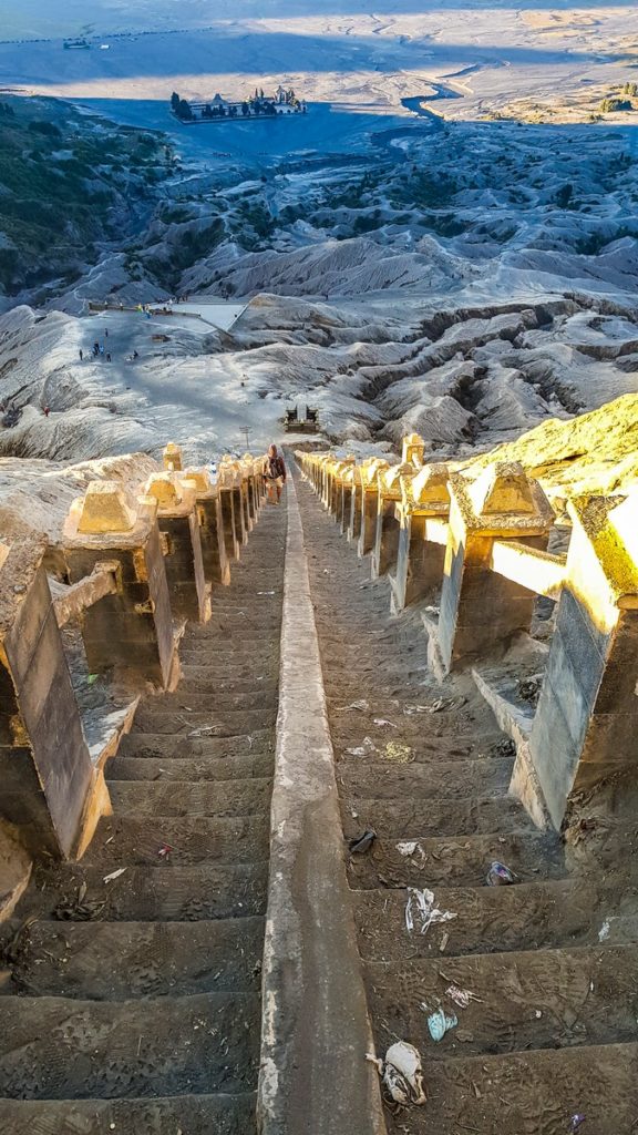
POLYGON ((536 595, 489 566, 495 539, 546 547, 553 513, 518 462, 488 466, 476 481, 450 478, 450 527, 438 620, 439 665, 486 657, 529 630, 536 595))

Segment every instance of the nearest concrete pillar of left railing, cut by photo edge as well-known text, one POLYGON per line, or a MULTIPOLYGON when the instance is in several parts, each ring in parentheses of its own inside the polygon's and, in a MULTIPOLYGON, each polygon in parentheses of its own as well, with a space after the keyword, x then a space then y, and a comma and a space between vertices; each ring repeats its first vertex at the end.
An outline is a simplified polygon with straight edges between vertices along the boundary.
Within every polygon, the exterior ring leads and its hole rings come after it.
POLYGON ((0 545, 0 816, 34 856, 70 858, 110 810, 84 740, 42 565, 44 545, 0 545))

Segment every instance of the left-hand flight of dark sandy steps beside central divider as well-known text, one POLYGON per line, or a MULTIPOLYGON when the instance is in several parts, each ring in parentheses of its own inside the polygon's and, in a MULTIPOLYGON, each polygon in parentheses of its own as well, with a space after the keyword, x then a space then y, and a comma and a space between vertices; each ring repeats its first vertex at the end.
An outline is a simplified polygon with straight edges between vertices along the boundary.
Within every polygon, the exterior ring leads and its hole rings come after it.
POLYGON ((266 508, 108 765, 112 817, 1 927, 7 1135, 255 1130, 284 539, 266 508))

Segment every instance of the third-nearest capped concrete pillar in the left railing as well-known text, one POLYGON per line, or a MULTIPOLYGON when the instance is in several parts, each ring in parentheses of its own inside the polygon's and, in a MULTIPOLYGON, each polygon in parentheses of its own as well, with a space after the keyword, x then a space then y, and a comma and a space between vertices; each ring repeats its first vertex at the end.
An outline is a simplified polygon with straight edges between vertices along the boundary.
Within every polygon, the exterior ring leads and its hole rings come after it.
POLYGON ((202 561, 196 484, 174 473, 150 477, 146 494, 158 502, 158 523, 165 544, 165 565, 174 614, 191 622, 210 619, 210 583, 202 561))

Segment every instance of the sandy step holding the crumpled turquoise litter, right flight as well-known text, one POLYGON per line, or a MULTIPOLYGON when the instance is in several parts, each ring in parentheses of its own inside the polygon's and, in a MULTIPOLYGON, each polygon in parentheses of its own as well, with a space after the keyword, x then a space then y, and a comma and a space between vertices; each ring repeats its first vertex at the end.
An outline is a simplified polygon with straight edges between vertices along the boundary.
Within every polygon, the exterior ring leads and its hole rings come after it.
POLYGON ((426 1067, 450 1056, 638 1040, 638 945, 439 956, 366 968, 377 1034, 409 1036, 426 1067), (459 991, 470 995, 467 1007, 459 991), (440 1010, 457 1025, 434 1041, 428 1017, 440 1010))

